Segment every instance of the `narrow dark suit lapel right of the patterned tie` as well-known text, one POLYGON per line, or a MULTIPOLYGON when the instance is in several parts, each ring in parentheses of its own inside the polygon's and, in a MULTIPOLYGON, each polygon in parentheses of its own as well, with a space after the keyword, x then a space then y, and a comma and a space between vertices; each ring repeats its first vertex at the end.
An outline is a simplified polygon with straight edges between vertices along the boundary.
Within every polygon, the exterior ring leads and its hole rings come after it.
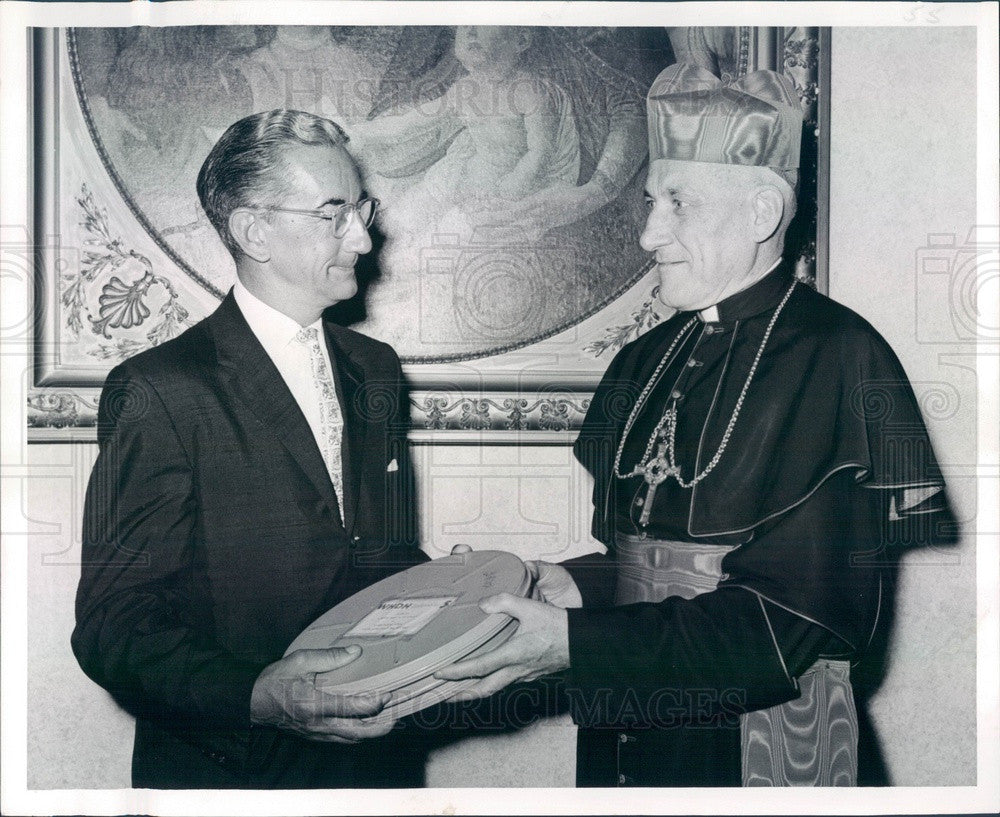
POLYGON ((344 463, 344 527, 351 534, 357 519, 364 442, 368 430, 368 419, 362 410, 364 369, 356 359, 354 345, 341 327, 328 321, 323 321, 323 326, 326 328, 330 360, 333 361, 337 398, 344 415, 344 436, 341 442, 341 458, 344 463))

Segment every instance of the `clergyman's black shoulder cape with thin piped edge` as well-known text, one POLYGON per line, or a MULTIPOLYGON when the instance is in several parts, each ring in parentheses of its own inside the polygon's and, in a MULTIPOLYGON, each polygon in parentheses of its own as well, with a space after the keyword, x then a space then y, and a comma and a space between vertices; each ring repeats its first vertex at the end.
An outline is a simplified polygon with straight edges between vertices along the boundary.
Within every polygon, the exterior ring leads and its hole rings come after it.
MULTIPOLYGON (((700 471, 722 440, 771 316, 740 322, 712 415, 700 471)), ((635 397, 691 313, 627 345, 594 393, 575 453, 593 474, 594 535, 611 544, 614 453, 635 397)), ((805 501, 851 469, 872 488, 940 486, 920 408, 896 355, 863 318, 799 286, 782 312, 718 466, 692 492, 688 532, 748 531, 805 501)))

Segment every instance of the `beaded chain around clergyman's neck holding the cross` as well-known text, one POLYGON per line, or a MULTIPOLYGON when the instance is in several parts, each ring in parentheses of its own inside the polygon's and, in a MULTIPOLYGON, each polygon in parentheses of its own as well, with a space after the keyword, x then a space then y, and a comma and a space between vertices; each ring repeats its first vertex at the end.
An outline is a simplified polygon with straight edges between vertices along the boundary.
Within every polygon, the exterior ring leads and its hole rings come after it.
POLYGON ((740 410, 743 408, 743 401, 746 399, 747 391, 750 388, 750 383, 753 381, 754 375, 757 373, 757 366, 760 363, 761 356, 764 354, 764 347, 767 346, 767 341, 771 337, 771 331, 774 329, 774 325, 778 322, 778 316, 781 314, 781 310, 785 308, 785 304, 788 303, 788 299, 792 296, 792 292, 795 289, 796 283, 797 283, 796 281, 792 282, 792 285, 788 288, 788 291, 785 293, 785 296, 781 299, 781 302, 778 304, 778 308, 774 310, 774 314, 771 316, 771 320, 767 325, 767 329, 764 331, 764 338, 763 340, 761 340, 760 347, 757 349, 757 354, 754 357, 753 364, 750 366, 750 373, 747 375, 746 382, 744 382, 743 384, 743 389, 742 391, 740 391, 740 396, 736 400, 736 406, 733 409, 733 413, 729 418, 729 423, 726 425, 726 430, 722 435, 722 441, 719 443, 719 447, 718 449, 716 449, 715 455, 712 457, 711 460, 709 460, 709 463, 708 465, 705 466, 704 470, 700 474, 695 475, 690 481, 686 482, 684 479, 681 478, 680 468, 677 465, 674 452, 674 446, 676 442, 675 438, 677 434, 676 398, 674 398, 671 401, 670 406, 666 409, 666 411, 663 412, 663 416, 660 418, 660 422, 658 422, 656 424, 656 428, 653 429, 653 433, 649 437, 649 443, 646 445, 646 451, 639 459, 639 463, 641 464, 636 465, 635 468, 633 468, 632 471, 628 474, 623 474, 621 473, 620 470, 622 451, 624 451, 625 449, 625 442, 628 439, 629 431, 631 431, 632 425, 635 423, 635 419, 638 416, 639 411, 642 409, 643 404, 649 397, 649 393, 653 390, 653 387, 656 385, 657 378, 659 377, 660 372, 667 365, 667 362, 669 361, 670 356, 673 353, 674 349, 676 348, 677 344, 680 342, 681 338, 685 335, 688 329, 691 328, 692 324, 694 324, 696 319, 692 318, 690 321, 688 321, 687 324, 685 324, 684 328, 681 329, 677 337, 674 338, 673 343, 670 344, 670 348, 667 349, 667 353, 663 356, 663 360, 661 360, 659 365, 656 367, 656 370, 653 372, 653 376, 649 379, 649 382, 646 384, 646 387, 642 390, 642 393, 639 395, 639 399, 636 401, 635 406, 632 408, 631 414, 629 414, 629 418, 625 423, 625 430, 622 432, 621 442, 618 444, 618 452, 615 455, 615 464, 613 473, 618 479, 629 479, 630 477, 642 474, 646 478, 646 481, 652 485, 655 482, 662 481, 662 479, 667 476, 671 476, 675 480, 677 480, 677 484, 680 485, 682 488, 691 488, 692 486, 697 485, 699 482, 701 482, 705 477, 707 477, 712 472, 715 466, 719 464, 719 460, 722 459, 722 453, 726 450, 726 446, 729 444, 729 438, 730 436, 732 436, 733 429, 736 427, 736 419, 740 416, 740 410), (653 446, 656 445, 656 441, 661 436, 666 437, 666 454, 667 454, 666 464, 668 467, 663 470, 651 470, 649 468, 649 464, 651 462, 649 456, 653 451, 653 446))

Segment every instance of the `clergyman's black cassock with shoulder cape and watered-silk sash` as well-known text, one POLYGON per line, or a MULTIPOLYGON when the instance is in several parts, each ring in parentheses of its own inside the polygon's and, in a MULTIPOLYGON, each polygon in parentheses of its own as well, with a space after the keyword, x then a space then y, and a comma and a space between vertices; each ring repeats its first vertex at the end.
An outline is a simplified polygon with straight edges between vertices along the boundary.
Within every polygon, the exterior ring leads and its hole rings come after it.
POLYGON ((564 563, 584 599, 568 611, 578 783, 872 780, 850 677, 880 658, 900 549, 955 534, 879 334, 779 264, 623 348, 575 453, 608 547, 564 563), (687 487, 642 471, 670 462, 671 407, 687 487))

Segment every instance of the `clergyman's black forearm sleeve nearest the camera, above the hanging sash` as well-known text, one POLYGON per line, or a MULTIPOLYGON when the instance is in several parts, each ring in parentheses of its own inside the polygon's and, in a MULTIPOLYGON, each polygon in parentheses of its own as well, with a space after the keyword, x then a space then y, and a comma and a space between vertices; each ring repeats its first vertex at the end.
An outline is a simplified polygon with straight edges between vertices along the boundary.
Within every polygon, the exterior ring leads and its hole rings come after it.
POLYGON ((825 629, 742 588, 571 609, 566 701, 587 727, 708 726, 798 695, 836 650, 825 629))

